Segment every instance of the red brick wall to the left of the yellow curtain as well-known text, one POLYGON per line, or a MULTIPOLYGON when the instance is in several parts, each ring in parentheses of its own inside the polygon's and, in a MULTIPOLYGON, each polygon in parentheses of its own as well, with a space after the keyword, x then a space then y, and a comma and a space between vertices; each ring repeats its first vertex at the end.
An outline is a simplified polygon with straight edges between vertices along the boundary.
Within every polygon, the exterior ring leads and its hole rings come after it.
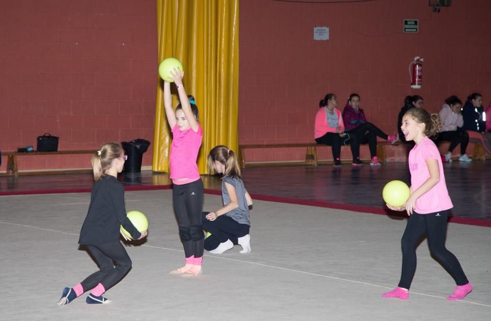
MULTIPOLYGON (((49 132, 59 149, 153 142, 155 0, 1 0, 0 149, 49 132)), ((90 156, 20 157, 20 170, 90 167, 90 156)), ((152 150, 144 154, 150 165, 152 150)), ((5 170, 6 160, 0 170, 5 170)))

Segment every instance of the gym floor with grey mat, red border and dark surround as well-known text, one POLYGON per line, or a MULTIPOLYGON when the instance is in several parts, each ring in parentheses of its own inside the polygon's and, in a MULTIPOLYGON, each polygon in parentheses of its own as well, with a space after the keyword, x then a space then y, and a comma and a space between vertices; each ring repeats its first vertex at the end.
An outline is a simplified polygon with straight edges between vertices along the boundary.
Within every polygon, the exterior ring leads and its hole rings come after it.
MULTIPOLYGON (((381 190, 409 182, 405 163, 374 168, 247 168, 254 196, 252 252, 205 251, 204 274, 168 273, 184 263, 166 174, 124 175, 127 210, 149 218, 149 235, 127 246, 128 275, 88 306, 85 294, 58 307, 61 290, 97 270, 77 244, 90 174, 0 178, 1 320, 490 320, 491 171, 486 162, 445 164, 454 203, 447 247, 474 291, 447 301, 450 275, 419 245, 408 301, 382 298, 400 276, 405 218, 383 209, 381 190), (369 214, 369 213, 375 213, 369 214), (390 214, 390 215, 389 215, 390 214), (457 220, 459 221, 459 220, 457 220)), ((204 176, 204 210, 221 205, 220 180, 204 176)))

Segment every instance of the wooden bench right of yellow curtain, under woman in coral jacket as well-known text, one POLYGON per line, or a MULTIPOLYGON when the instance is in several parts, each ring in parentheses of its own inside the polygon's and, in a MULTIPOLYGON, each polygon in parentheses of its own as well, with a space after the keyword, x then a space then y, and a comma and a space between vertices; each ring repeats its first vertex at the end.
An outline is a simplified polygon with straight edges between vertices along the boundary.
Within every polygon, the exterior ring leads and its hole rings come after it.
MULTIPOLYGON (((377 144, 377 156, 379 155, 379 152, 385 155, 384 153, 384 147, 386 143, 381 143, 377 144)), ((362 144, 361 146, 364 146, 367 144, 362 144)), ((368 145, 367 145, 368 146, 368 145)), ((305 153, 305 160, 299 160, 299 161, 263 161, 263 162, 254 162, 251 163, 250 165, 252 166, 278 166, 278 165, 314 165, 317 166, 318 164, 332 164, 333 160, 319 160, 317 158, 317 147, 329 147, 325 144, 317 144, 316 142, 307 142, 307 143, 284 143, 284 144, 251 144, 251 145, 239 145, 239 164, 242 168, 246 167, 246 158, 244 154, 244 150, 246 149, 259 149, 259 148, 298 148, 298 147, 304 147, 306 148, 306 153, 305 153)), ((384 159, 381 159, 379 157, 379 161, 384 162, 384 159)), ((351 161, 350 161, 351 162, 351 161)))

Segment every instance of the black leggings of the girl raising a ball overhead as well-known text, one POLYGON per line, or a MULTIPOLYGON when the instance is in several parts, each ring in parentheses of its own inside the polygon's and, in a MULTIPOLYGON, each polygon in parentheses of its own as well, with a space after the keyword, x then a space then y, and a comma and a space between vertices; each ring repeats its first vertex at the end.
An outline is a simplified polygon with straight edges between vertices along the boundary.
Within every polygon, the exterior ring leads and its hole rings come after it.
POLYGON ((203 256, 205 236, 201 225, 203 211, 203 181, 172 186, 172 201, 179 226, 179 237, 187 258, 203 256))

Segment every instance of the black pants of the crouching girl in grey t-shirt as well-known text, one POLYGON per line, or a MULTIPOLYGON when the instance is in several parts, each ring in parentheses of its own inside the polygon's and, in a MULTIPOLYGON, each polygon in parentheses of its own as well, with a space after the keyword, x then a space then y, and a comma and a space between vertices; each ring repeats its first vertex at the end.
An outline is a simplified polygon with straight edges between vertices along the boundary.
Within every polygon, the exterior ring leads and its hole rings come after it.
POLYGON ((235 245, 238 244, 237 239, 249 234, 250 226, 241 224, 227 215, 220 215, 216 220, 210 221, 206 215, 210 212, 203 212, 203 228, 210 232, 211 235, 205 240, 205 250, 214 250, 227 240, 232 241, 235 245))

